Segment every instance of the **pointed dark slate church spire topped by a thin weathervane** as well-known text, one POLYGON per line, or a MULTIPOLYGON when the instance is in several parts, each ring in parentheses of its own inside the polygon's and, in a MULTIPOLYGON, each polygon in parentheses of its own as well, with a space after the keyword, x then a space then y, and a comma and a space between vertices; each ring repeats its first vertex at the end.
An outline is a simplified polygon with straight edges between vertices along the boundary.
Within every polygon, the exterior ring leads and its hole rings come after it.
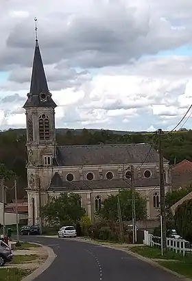
MULTIPOLYGON (((34 19, 37 23, 37 19, 34 19)), ((32 79, 30 91, 27 94, 27 101, 23 108, 26 107, 51 107, 56 108, 56 103, 51 99, 51 93, 47 85, 47 78, 43 66, 43 60, 40 55, 40 48, 38 45, 37 24, 36 31, 36 45, 34 51, 34 62, 32 66, 32 79)))

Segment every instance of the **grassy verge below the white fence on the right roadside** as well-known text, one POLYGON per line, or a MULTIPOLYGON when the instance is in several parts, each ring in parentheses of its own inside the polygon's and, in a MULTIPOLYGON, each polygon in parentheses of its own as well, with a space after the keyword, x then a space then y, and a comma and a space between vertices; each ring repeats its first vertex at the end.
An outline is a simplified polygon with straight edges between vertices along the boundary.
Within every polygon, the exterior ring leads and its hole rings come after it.
POLYGON ((192 254, 176 254, 175 252, 168 250, 167 253, 162 256, 158 247, 132 247, 130 251, 151 258, 158 262, 163 267, 167 267, 172 271, 180 273, 182 276, 192 278, 192 254))

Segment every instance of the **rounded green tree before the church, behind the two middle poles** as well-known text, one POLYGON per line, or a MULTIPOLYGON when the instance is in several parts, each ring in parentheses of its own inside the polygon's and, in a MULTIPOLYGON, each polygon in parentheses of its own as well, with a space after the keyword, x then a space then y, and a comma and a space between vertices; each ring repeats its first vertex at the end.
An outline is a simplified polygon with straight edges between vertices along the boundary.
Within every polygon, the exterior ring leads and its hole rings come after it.
MULTIPOLYGON (((123 221, 132 220, 132 191, 130 189, 122 189, 118 195, 109 195, 107 199, 102 202, 101 209, 97 212, 97 215, 101 219, 107 221, 118 221, 117 211, 117 196, 119 196, 119 202, 121 206, 121 215, 123 221)), ((139 193, 135 193, 136 199, 136 219, 145 219, 147 216, 146 200, 141 197, 139 193)))

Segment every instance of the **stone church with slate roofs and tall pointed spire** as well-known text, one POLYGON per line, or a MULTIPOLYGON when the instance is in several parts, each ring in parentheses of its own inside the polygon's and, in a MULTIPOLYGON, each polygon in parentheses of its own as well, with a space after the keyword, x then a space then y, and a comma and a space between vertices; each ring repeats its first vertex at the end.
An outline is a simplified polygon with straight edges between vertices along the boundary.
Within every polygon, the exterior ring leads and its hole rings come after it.
MULTIPOLYGON (((158 152, 151 145, 70 145, 56 143, 55 108, 36 39, 32 78, 25 108, 27 124, 28 223, 39 223, 39 204, 61 193, 78 193, 94 223, 101 201, 121 188, 135 189, 147 201, 147 218, 157 219, 160 206, 158 152), (39 200, 40 198, 40 200, 39 200)), ((165 193, 170 190, 169 161, 164 159, 165 193)))

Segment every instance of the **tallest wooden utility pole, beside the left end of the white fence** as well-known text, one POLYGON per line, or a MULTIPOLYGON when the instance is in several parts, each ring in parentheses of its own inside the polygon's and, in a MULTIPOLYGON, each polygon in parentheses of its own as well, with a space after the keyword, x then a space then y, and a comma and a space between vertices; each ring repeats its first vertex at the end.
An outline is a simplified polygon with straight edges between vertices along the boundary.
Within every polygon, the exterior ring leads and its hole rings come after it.
POLYGON ((158 129, 158 154, 159 154, 159 173, 160 173, 160 221, 161 221, 161 247, 162 254, 167 251, 167 235, 166 235, 166 213, 165 213, 165 182, 163 170, 163 154, 161 149, 161 135, 162 130, 158 129))

